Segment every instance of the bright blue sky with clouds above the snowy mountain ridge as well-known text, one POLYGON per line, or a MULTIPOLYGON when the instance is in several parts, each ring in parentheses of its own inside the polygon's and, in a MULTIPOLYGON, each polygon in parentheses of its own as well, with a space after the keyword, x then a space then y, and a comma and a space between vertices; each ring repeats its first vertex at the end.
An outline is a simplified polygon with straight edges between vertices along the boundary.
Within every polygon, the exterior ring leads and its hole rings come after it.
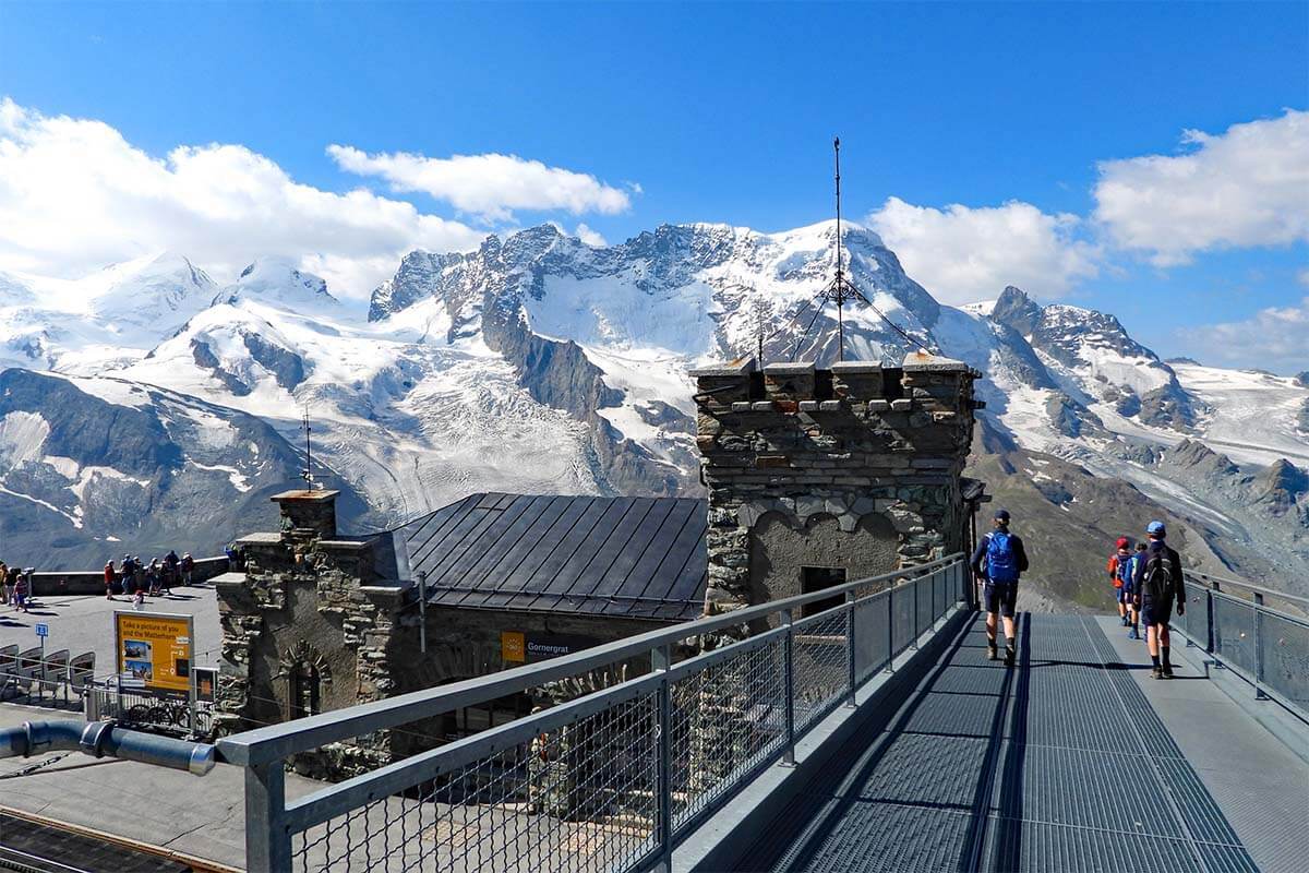
MULTIPOLYGON (((25 114, 29 139, 39 119, 68 115, 164 162, 183 145, 243 147, 223 156, 226 188, 272 166, 318 191, 374 192, 355 224, 298 221, 322 225, 319 237, 249 228, 251 250, 325 251, 338 284, 376 272, 387 234, 403 247, 467 245, 541 220, 610 242, 664 221, 810 224, 830 216, 830 137, 840 134, 847 213, 882 230, 942 298, 1014 281, 1114 312, 1161 353, 1280 370, 1296 365, 1309 330, 1295 327, 1309 296, 1309 207, 1296 205, 1309 179, 1302 161, 1276 152, 1296 149, 1304 124, 1272 127, 1309 109, 1304 3, 3 4, 0 97, 25 114), (1219 139, 1186 144, 1187 130, 1219 139), (355 169, 327 153, 332 144, 352 149, 355 169), (398 152, 512 154, 569 174, 525 170, 522 185, 562 179, 568 191, 474 190, 493 165, 382 160, 398 152), (1160 181, 1172 165, 1141 161, 1196 153, 1199 194, 1160 181), (1106 171, 1106 161, 1122 164, 1106 171), (1282 177, 1262 178, 1267 166, 1282 177), (1216 215, 1199 208, 1174 224, 1212 179, 1236 194, 1216 215), (1106 182, 1122 195, 1111 203, 1097 188, 1106 182), (351 228, 376 245, 335 251, 351 228), (1272 360, 1258 344, 1216 360, 1215 338, 1233 344, 1242 331, 1210 326, 1246 321, 1292 332, 1278 335, 1272 360)), ((325 204, 332 221, 357 205, 325 204)), ((56 219, 50 228, 67 226, 56 219)), ((123 240, 97 229, 81 247, 147 247, 156 228, 177 224, 143 217, 123 240)), ((213 228, 194 236, 211 240, 213 228)), ((0 243, 0 267, 7 254, 16 267, 48 270, 63 257, 76 268, 43 238, 0 243)), ((215 247, 209 259, 226 255, 215 247)))

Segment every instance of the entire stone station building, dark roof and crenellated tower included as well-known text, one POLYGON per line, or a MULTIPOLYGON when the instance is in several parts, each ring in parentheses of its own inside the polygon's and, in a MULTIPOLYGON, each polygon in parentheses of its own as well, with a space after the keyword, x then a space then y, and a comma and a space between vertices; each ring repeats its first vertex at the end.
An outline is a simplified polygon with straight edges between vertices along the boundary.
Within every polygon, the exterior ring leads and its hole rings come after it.
MULTIPOLYGON (((335 492, 274 497, 281 530, 242 539, 245 572, 216 580, 217 729, 469 679, 966 547, 975 370, 910 356, 692 376, 707 500, 476 493, 343 537, 335 492)), ((644 669, 614 665, 296 763, 348 775, 644 669)))

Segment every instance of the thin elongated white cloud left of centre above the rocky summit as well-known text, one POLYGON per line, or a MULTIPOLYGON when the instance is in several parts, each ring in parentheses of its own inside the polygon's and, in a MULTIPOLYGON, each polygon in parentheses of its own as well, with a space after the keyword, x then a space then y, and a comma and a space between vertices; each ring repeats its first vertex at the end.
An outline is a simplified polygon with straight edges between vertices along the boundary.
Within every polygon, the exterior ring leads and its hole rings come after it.
POLYGON ((508 221, 513 209, 613 215, 631 205, 627 192, 594 175, 516 154, 367 154, 350 145, 329 145, 327 154, 343 170, 386 179, 393 191, 421 191, 488 220, 508 221))

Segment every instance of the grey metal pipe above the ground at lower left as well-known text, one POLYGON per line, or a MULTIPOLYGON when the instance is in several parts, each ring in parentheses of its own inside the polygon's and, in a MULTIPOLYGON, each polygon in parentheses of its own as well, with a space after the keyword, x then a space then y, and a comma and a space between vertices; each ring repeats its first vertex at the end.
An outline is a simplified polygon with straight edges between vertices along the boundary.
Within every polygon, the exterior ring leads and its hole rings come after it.
POLYGON ((209 743, 127 730, 113 721, 24 721, 21 728, 0 729, 0 758, 30 758, 50 750, 139 760, 196 776, 217 762, 217 749, 209 743))

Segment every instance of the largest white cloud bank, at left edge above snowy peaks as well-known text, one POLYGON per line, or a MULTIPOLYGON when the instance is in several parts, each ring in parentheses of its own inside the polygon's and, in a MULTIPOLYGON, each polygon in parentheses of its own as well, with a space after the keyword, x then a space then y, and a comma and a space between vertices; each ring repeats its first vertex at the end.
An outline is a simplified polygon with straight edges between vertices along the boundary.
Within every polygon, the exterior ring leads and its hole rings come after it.
POLYGON ((323 191, 241 145, 166 157, 97 120, 0 101, 0 268, 75 277, 171 250, 219 280, 257 257, 298 258, 334 293, 365 296, 415 247, 470 249, 484 236, 411 203, 323 191))

